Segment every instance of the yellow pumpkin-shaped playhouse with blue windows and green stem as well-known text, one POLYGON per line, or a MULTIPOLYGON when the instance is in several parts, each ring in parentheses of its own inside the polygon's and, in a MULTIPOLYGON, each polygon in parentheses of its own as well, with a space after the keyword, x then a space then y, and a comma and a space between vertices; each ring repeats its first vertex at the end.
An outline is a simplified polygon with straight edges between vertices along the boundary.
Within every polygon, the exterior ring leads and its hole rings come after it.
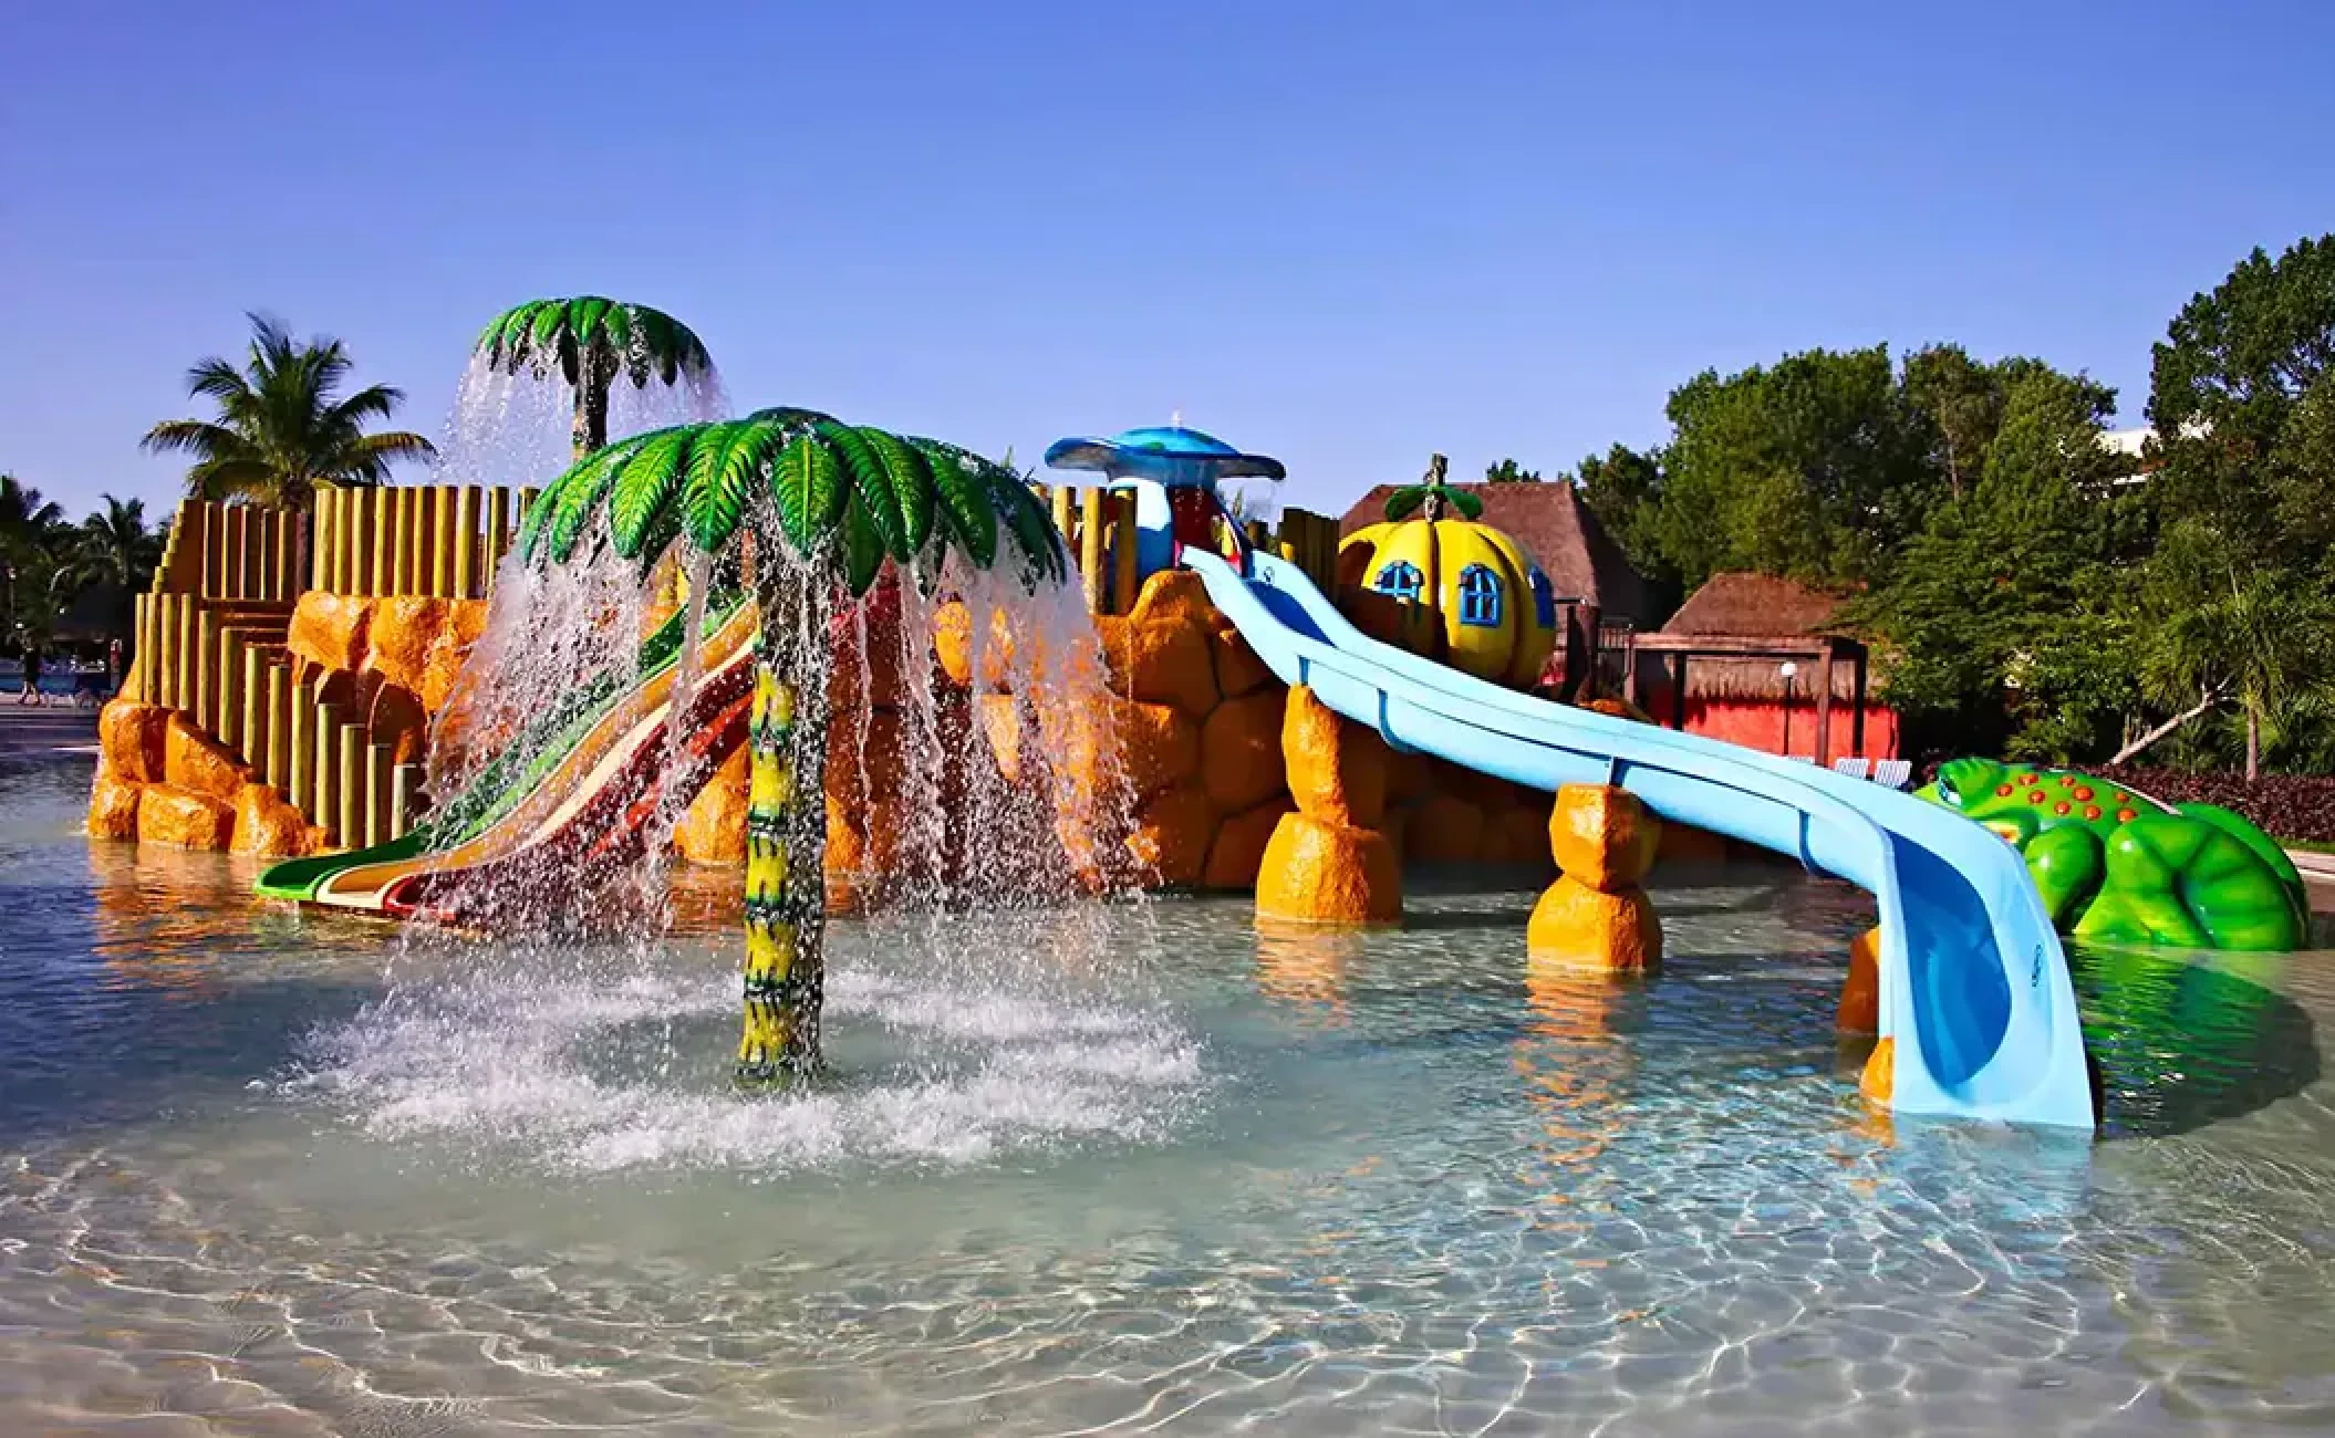
POLYGON ((1385 523, 1338 544, 1338 579, 1424 605, 1443 663, 1529 689, 1557 647, 1557 595, 1525 546, 1480 516, 1483 500, 1445 486, 1436 455, 1424 483, 1387 497, 1385 523))

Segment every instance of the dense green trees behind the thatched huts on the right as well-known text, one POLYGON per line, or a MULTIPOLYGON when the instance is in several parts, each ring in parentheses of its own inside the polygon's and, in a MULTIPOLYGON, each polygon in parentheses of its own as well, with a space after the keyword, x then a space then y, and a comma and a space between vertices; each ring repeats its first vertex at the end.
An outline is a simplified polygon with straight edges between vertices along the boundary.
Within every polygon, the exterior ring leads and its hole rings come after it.
POLYGON ((2181 306, 2139 453, 2113 416, 2036 357, 1807 350, 1698 374, 1665 444, 1564 479, 1674 593, 1847 595, 1919 752, 2335 770, 2335 236, 2181 306))

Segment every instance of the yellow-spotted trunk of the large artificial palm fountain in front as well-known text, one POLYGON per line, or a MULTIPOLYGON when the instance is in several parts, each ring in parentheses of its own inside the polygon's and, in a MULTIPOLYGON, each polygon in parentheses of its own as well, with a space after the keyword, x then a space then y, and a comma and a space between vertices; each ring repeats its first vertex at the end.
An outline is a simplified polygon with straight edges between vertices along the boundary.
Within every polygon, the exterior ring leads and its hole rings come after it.
MULTIPOLYGON (((754 644, 745 817, 745 1036, 738 1078, 768 1083, 820 1067, 827 983, 827 724, 806 686, 780 675, 771 628, 754 644)), ((815 684, 810 689, 824 689, 815 684)))

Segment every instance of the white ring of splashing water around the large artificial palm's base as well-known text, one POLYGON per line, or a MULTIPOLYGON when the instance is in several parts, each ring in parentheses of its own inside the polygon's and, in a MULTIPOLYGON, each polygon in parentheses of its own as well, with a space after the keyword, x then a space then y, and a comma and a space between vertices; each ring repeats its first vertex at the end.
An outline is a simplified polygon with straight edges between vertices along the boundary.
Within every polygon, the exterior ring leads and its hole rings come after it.
POLYGON ((939 936, 913 920, 838 934, 836 1078, 817 1088, 729 1090, 738 990, 710 943, 572 952, 556 980, 525 945, 409 955, 427 971, 318 1029, 283 1088, 385 1142, 560 1172, 992 1163, 1156 1142, 1198 1111, 1200 1043, 1163 1006, 1006 973, 939 936), (859 962, 873 945, 883 969, 859 962))

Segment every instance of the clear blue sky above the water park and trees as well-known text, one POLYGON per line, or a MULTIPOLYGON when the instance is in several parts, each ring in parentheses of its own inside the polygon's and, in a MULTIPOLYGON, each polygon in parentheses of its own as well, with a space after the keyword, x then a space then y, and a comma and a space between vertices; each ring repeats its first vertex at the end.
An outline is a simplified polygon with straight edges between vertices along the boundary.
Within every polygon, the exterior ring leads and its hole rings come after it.
POLYGON ((1030 460, 1186 423, 1340 507, 1569 467, 1705 367, 1957 338, 2146 402, 2335 229, 2335 5, 0 7, 0 472, 138 434, 243 310, 437 434, 495 310, 689 320, 740 409, 1030 460))

